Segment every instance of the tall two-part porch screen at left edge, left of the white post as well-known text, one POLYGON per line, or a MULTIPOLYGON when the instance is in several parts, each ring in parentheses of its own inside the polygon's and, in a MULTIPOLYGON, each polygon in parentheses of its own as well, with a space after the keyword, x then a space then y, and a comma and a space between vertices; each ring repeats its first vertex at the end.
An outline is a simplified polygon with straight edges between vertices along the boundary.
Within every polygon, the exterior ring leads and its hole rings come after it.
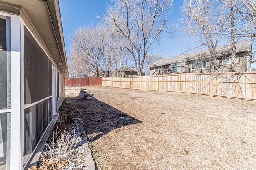
POLYGON ((11 57, 10 18, 0 16, 0 170, 10 169, 11 57))

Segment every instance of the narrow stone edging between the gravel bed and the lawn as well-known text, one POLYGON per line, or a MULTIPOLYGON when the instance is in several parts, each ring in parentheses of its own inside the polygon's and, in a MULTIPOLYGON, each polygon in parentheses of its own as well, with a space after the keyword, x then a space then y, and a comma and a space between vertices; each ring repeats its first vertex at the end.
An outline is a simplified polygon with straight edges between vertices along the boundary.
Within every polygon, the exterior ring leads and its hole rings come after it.
POLYGON ((89 148, 87 136, 84 132, 82 119, 80 118, 74 118, 74 119, 79 121, 80 135, 82 137, 82 147, 85 148, 85 159, 87 160, 87 170, 96 170, 95 162, 93 160, 93 155, 91 153, 91 149, 89 148))

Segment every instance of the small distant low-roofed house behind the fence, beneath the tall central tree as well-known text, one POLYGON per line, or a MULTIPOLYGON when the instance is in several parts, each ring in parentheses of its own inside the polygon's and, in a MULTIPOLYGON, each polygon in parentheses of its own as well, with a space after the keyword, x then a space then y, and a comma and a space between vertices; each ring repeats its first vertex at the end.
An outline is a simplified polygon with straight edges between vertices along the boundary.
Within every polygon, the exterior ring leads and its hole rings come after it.
MULTIPOLYGON (((144 71, 142 71, 141 76, 145 76, 144 71)), ((137 70, 132 67, 123 66, 111 70, 111 77, 131 77, 131 76, 138 76, 137 70)))

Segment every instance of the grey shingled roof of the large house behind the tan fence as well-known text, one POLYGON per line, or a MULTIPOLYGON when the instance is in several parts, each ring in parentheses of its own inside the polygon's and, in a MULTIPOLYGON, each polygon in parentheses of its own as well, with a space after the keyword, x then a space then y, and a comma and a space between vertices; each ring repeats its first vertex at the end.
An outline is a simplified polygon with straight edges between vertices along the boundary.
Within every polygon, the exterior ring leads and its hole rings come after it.
MULTIPOLYGON (((241 41, 236 43, 236 52, 242 52, 242 51, 252 51, 252 41, 241 41)), ((223 55, 223 54, 229 54, 231 52, 231 45, 226 45, 226 46, 221 46, 216 48, 217 55, 223 55)), ((193 53, 188 53, 184 55, 178 55, 175 57, 171 58, 164 58, 161 60, 158 60, 154 62, 152 65, 149 66, 151 67, 156 67, 156 66, 164 66, 167 64, 172 64, 172 63, 177 63, 177 62, 184 62, 184 61, 190 61, 190 60, 195 60, 196 58, 204 58, 204 57, 209 57, 210 56, 210 51, 209 49, 205 49, 202 51, 196 51, 193 53)))

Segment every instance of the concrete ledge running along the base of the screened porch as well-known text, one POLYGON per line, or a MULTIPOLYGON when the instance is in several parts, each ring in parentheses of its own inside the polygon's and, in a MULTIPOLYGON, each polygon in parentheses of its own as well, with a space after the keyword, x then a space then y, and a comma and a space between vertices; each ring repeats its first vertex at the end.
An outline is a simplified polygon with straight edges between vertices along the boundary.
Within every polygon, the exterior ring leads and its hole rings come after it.
POLYGON ((52 128, 54 127, 56 121, 59 118, 59 113, 57 113, 56 115, 53 116, 52 118, 52 122, 50 123, 50 125, 48 126, 45 134, 43 135, 41 141, 39 142, 37 148, 35 149, 34 154, 32 155, 31 159, 29 160, 26 168, 24 170, 28 170, 28 168, 31 168, 32 166, 36 166, 38 163, 38 160, 41 156, 41 153, 43 152, 44 148, 45 148, 45 143, 48 141, 50 134, 52 132, 52 128))

